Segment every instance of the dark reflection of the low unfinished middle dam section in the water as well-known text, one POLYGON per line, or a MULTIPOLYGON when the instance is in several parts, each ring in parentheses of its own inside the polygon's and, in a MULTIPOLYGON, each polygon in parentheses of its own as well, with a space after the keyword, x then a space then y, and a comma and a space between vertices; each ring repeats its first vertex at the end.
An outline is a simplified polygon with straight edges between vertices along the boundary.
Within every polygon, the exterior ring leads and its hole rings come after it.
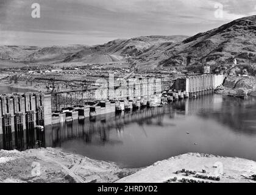
POLYGON ((87 118, 82 121, 73 121, 46 127, 46 147, 61 147, 61 143, 67 140, 83 140, 90 144, 118 144, 120 141, 111 140, 110 130, 115 129, 118 137, 122 137, 124 126, 130 123, 137 123, 139 126, 144 124, 153 125, 152 119, 156 119, 155 125, 162 126, 163 116, 171 113, 171 107, 144 108, 141 110, 122 112, 119 114, 111 113, 108 115, 87 118))

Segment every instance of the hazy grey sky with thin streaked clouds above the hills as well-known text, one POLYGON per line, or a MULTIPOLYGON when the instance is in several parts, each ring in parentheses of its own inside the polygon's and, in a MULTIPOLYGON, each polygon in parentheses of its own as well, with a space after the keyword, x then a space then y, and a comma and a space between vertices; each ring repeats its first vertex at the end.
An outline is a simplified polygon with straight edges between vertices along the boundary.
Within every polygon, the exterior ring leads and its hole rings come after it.
POLYGON ((101 44, 141 35, 194 35, 249 15, 256 15, 256 0, 0 0, 0 44, 101 44), (40 4, 40 18, 31 16, 34 3, 40 4), (222 18, 216 17, 219 4, 222 18))

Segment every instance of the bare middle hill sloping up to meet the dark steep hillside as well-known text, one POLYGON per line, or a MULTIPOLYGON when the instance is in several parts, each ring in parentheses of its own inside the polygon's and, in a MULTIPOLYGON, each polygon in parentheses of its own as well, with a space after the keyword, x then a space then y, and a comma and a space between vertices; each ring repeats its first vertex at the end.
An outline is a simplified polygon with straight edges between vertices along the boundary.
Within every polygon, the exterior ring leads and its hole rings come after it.
POLYGON ((85 48, 66 57, 64 62, 108 63, 119 62, 126 55, 135 57, 138 62, 154 63, 154 54, 184 40, 185 36, 148 36, 129 40, 113 40, 106 44, 85 48))

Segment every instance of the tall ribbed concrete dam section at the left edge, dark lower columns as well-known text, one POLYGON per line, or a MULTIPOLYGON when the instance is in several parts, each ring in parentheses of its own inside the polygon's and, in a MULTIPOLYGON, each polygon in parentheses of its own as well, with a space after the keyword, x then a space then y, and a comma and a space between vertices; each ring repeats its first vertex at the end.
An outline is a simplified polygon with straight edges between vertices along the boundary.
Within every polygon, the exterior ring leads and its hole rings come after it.
POLYGON ((34 146, 35 127, 52 122, 51 96, 39 93, 0 96, 0 147, 16 149, 34 146), (25 135, 25 136, 24 136, 25 135))

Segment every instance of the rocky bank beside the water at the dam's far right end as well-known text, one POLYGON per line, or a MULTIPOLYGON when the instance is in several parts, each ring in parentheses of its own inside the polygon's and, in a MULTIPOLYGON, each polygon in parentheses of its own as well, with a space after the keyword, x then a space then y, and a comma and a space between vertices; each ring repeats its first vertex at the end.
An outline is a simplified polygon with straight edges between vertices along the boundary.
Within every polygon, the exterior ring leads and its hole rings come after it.
POLYGON ((256 77, 229 76, 215 92, 239 98, 256 96, 256 77))

